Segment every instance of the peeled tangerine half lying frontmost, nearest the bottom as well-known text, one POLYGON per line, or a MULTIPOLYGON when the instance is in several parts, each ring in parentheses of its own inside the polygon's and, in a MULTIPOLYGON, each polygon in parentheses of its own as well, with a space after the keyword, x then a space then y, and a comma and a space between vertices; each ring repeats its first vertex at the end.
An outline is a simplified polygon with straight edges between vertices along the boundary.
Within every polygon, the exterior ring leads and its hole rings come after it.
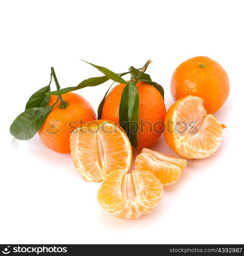
POLYGON ((97 199, 105 211, 118 218, 139 218, 151 212, 162 196, 162 184, 148 170, 129 174, 113 170, 102 182, 97 199))

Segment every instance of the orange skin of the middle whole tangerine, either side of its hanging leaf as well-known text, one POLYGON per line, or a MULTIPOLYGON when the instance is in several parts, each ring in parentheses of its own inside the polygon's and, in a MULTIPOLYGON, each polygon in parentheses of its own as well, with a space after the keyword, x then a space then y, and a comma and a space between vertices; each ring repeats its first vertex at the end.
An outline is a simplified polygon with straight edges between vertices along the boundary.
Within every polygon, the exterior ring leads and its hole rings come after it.
MULTIPOLYGON (((102 119, 113 120, 119 123, 119 106, 124 88, 125 84, 120 83, 108 94, 102 109, 102 119)), ((163 97, 156 88, 151 86, 151 84, 140 81, 137 83, 137 89, 139 92, 139 131, 137 133, 137 149, 140 149, 153 144, 161 136, 166 109, 163 97), (142 130, 140 120, 141 122, 150 122, 151 124, 144 124, 144 129, 142 130), (154 129, 151 129, 150 131, 149 125, 153 127, 153 124, 154 129)))

